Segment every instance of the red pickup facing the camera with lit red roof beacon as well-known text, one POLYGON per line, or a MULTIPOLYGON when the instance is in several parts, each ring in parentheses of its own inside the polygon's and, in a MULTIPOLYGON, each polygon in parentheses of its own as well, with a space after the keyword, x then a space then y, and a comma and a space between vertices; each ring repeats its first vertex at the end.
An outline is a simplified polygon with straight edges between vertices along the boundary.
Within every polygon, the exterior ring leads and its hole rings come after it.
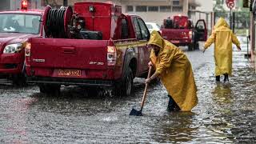
POLYGON ((42 35, 42 15, 42 10, 0 12, 0 78, 18 86, 26 84, 25 43, 42 35))

